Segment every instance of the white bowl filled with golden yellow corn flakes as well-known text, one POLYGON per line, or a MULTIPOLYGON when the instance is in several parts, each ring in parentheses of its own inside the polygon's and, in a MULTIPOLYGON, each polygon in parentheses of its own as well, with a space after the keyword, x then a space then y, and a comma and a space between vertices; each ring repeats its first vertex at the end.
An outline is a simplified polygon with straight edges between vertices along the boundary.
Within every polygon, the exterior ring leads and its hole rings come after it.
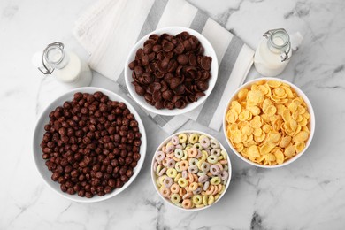
POLYGON ((301 157, 314 130, 311 102, 287 80, 250 80, 234 92, 224 113, 230 148, 243 161, 263 168, 285 166, 301 157))

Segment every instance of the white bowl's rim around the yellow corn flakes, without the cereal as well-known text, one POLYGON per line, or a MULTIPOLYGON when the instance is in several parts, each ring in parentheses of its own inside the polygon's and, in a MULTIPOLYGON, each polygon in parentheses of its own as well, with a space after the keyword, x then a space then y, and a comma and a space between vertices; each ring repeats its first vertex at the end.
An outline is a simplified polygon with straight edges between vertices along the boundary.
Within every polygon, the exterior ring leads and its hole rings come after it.
POLYGON ((260 81, 260 80, 277 80, 277 81, 281 81, 281 82, 287 83, 291 88, 293 88, 295 90, 295 92, 296 92, 296 94, 298 96, 301 96, 303 98, 304 102, 307 104, 308 111, 311 114, 311 121, 310 121, 310 124, 308 125, 308 127, 309 127, 309 129, 311 131, 311 134, 310 134, 309 139, 308 139, 308 141, 307 141, 307 143, 305 145, 305 148, 303 149, 302 152, 300 152, 297 155, 295 155, 295 157, 292 157, 291 159, 289 159, 288 161, 284 162, 281 165, 260 165, 260 164, 257 164, 255 162, 250 161, 246 157, 243 157, 241 153, 239 153, 236 149, 234 149, 234 146, 227 139, 227 137, 226 137, 226 142, 228 143, 230 148, 234 151, 234 153, 237 155, 237 157, 240 157, 243 161, 249 163, 250 165, 255 165, 255 166, 261 167, 261 168, 279 168, 279 167, 282 167, 282 166, 289 165, 289 164, 293 163, 296 159, 298 159, 299 157, 301 157, 303 155, 303 153, 310 146, 311 140, 312 140, 312 137, 313 137, 314 131, 315 131, 315 114, 314 114, 314 110, 312 109, 311 102, 309 101, 308 97, 303 93, 303 91, 300 88, 296 87, 293 83, 288 82, 287 80, 279 79, 279 78, 258 78, 258 79, 255 79, 255 80, 249 80, 247 83, 243 84, 240 88, 238 88, 234 92, 233 96, 230 97, 230 100, 226 104, 226 108, 225 108, 224 116, 223 116, 223 132, 224 132, 224 134, 226 136, 226 125, 227 125, 227 122, 226 122, 226 112, 228 111, 228 109, 229 109, 229 107, 231 105, 231 102, 237 97, 238 92, 242 88, 249 88, 255 82, 260 81))

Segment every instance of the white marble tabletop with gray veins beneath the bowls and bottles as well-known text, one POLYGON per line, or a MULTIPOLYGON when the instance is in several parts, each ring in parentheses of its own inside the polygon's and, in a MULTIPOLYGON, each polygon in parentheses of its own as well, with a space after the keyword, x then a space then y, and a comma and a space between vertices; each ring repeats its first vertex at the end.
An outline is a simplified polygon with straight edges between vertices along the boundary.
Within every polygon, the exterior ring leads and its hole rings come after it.
MULTIPOLYGON (((230 188, 221 202, 199 212, 175 210, 157 196, 149 162, 166 134, 145 116, 147 160, 121 195, 101 203, 70 202, 45 186, 36 172, 31 150, 35 120, 66 89, 43 78, 31 56, 45 44, 61 41, 87 58, 72 29, 92 2, 0 2, 0 229, 344 229, 344 1, 193 1, 253 48, 269 28, 300 31, 303 44, 280 78, 309 96, 317 123, 310 149, 287 167, 259 169, 230 153, 230 188)), ((249 73, 249 78, 257 76, 249 73)), ((92 86, 119 90, 97 74, 92 86)), ((209 132, 226 143, 223 134, 194 122, 182 128, 209 132)))

